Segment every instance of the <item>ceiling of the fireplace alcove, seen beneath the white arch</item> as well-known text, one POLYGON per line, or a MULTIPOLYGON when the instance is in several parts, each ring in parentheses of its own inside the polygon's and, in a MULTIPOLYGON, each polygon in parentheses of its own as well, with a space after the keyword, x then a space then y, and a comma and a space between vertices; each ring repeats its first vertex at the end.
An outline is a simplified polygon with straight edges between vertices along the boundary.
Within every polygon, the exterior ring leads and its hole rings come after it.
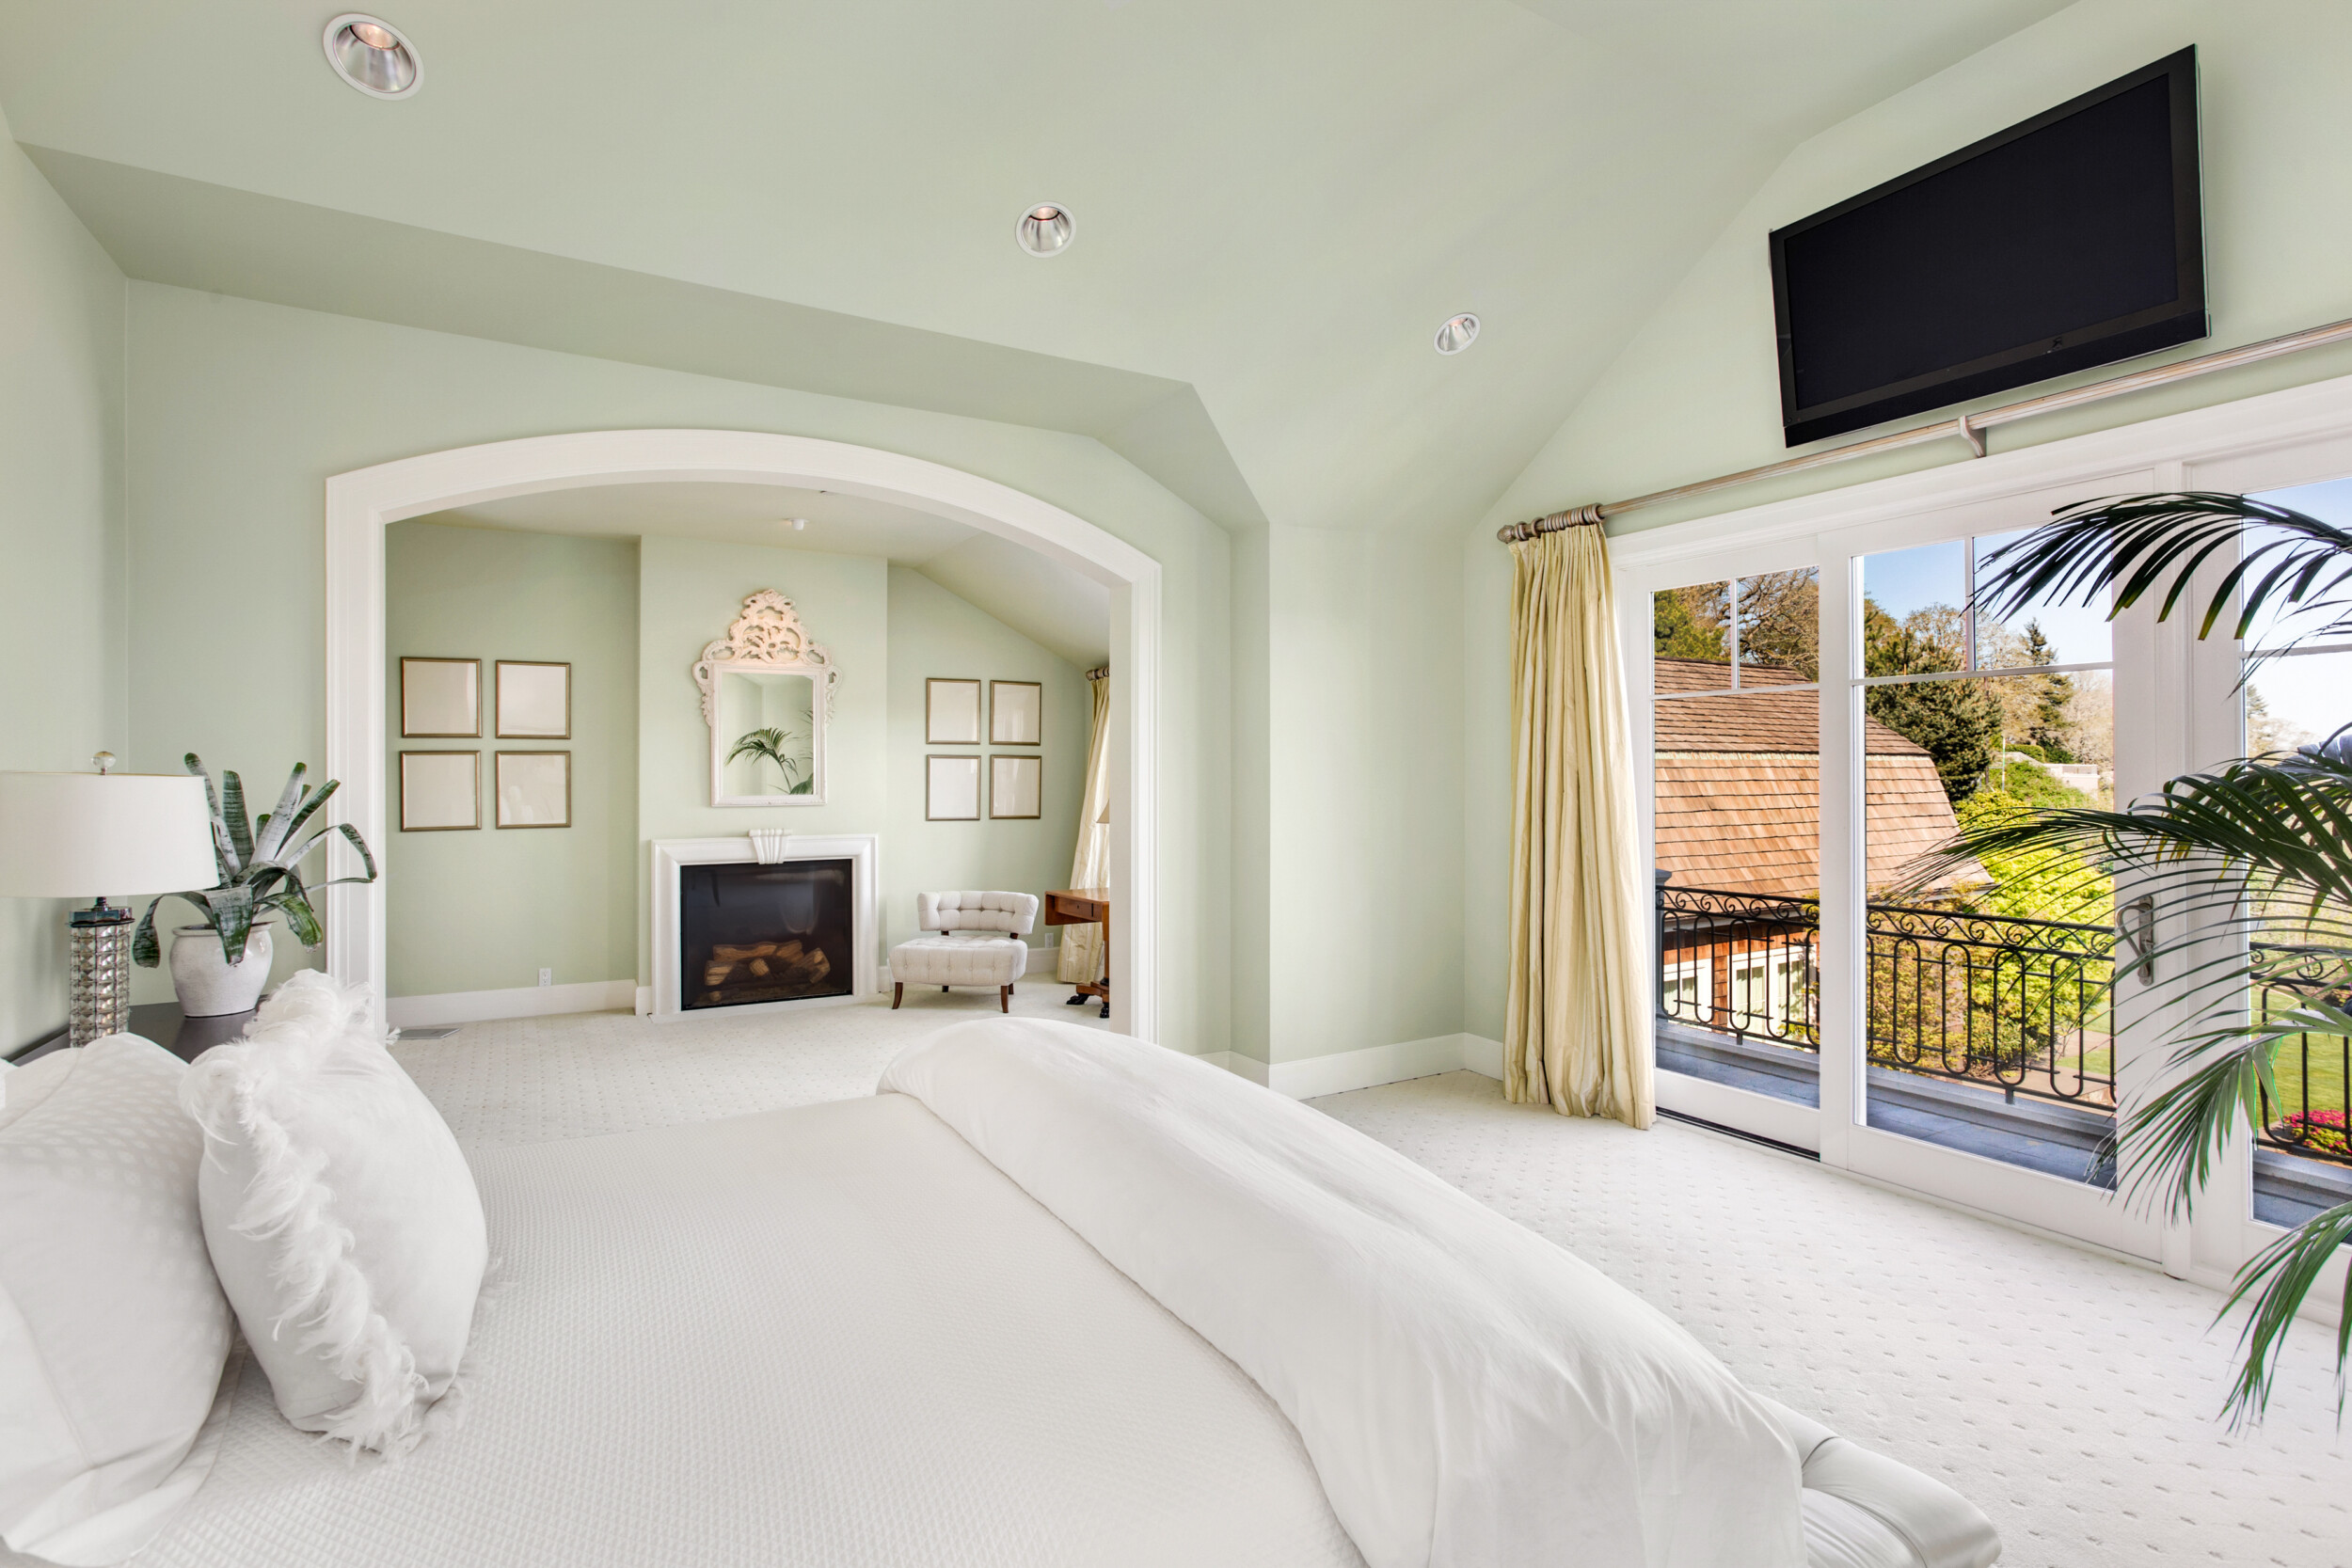
POLYGON ((962 522, 866 496, 776 484, 590 484, 433 512, 419 522, 532 534, 673 534, 913 567, 1080 668, 1110 656, 1110 590, 962 522), (807 520, 795 529, 790 520, 807 520))

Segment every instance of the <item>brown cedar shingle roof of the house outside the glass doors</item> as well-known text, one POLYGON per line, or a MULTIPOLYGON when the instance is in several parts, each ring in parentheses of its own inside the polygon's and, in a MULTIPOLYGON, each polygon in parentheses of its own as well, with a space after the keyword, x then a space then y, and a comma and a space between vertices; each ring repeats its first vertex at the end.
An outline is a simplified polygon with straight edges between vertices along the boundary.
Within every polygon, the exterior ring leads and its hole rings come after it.
MULTIPOLYGON (((1677 886, 1738 893, 1820 891, 1820 705, 1750 686, 1804 682, 1795 670, 1743 668, 1738 696, 1656 703, 1656 858, 1677 886)), ((1658 691, 1715 691, 1729 665, 1661 658, 1658 691)), ((1877 719, 1863 719, 1867 759, 1865 884, 1893 882, 1957 827, 1936 759, 1877 719)))

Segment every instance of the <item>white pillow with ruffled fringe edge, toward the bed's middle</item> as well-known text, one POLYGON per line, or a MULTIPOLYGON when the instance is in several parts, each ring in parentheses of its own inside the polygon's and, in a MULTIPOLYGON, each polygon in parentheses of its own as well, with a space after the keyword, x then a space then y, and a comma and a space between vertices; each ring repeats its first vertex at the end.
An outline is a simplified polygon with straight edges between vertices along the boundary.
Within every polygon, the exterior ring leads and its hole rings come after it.
POLYGON ((473 1171, 367 1020, 367 990, 299 971, 181 1091, 207 1133, 212 1267, 278 1410, 405 1453, 459 1403, 489 1239, 473 1171))

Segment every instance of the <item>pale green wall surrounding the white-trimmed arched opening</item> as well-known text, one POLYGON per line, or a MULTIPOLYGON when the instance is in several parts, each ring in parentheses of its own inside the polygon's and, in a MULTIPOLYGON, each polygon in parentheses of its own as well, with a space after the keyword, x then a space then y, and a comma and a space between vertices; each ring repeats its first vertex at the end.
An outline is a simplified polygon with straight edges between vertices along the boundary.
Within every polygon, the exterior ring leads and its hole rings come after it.
MULTIPOLYGON (((146 282, 129 287, 129 404, 139 766, 191 745, 254 776, 320 759, 322 487, 421 451, 642 425, 783 430, 962 468, 1134 543, 1164 571, 1162 1037, 1225 1048, 1228 538, 1101 442, 146 282), (221 614, 266 616, 266 635, 212 654, 195 628, 221 614)), ((720 616, 706 637, 724 630, 720 616)), ((826 623, 818 637, 847 642, 826 623)))

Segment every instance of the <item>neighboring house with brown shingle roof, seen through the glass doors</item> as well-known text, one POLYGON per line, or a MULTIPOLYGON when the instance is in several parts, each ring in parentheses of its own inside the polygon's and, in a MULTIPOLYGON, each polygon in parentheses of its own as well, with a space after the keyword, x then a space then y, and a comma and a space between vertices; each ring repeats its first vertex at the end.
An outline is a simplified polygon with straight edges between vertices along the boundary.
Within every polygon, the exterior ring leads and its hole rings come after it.
MULTIPOLYGON (((1656 661, 1656 691, 1724 691, 1731 665, 1656 661)), ((1936 759, 1863 717, 1865 884, 1875 896, 1959 820, 1936 759)), ((1656 705, 1658 1006, 1672 1018, 1813 1044, 1820 893, 1820 693, 1740 665, 1740 691, 1656 705), (1773 691, 1773 686, 1797 686, 1773 691)), ((1966 879, 1966 877, 1962 877, 1966 879)), ((1933 896, 1950 882, 1922 889, 1933 896)))

